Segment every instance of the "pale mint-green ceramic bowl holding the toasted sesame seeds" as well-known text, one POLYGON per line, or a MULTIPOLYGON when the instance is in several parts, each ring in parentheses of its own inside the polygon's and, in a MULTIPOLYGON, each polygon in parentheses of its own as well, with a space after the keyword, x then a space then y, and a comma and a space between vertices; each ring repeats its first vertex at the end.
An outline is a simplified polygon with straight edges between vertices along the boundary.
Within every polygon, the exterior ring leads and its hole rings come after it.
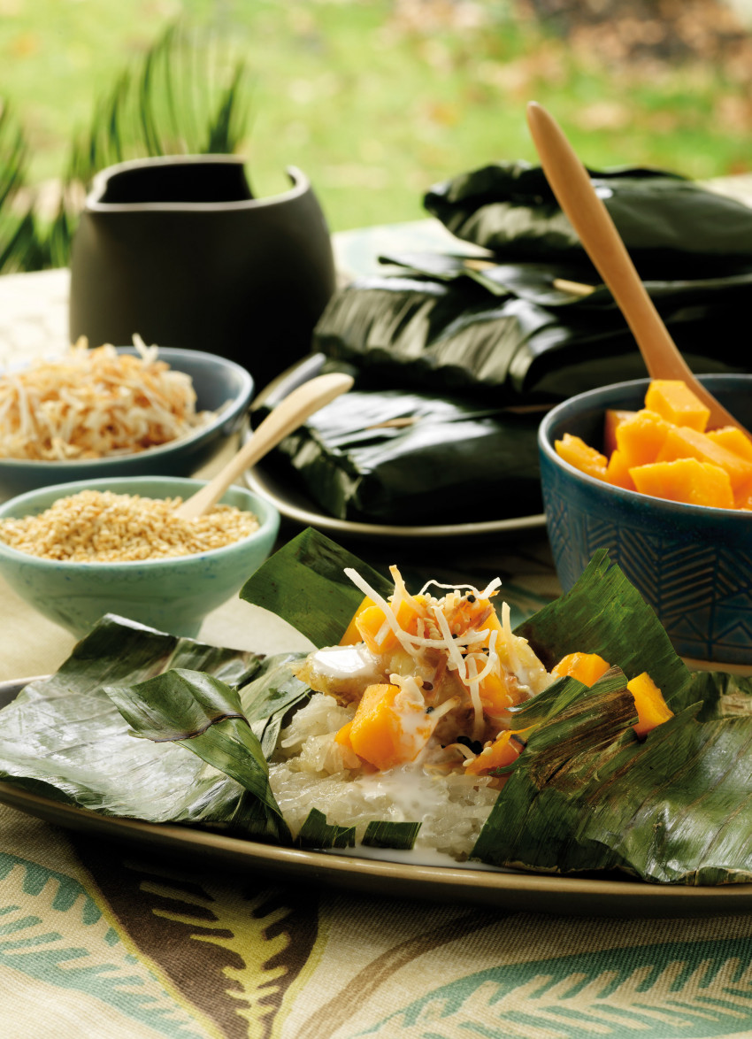
MULTIPOLYGON (((0 518, 43 512, 79 490, 186 499, 205 481, 176 477, 84 480, 20 495, 0 505, 0 518)), ((0 541, 0 574, 30 606, 75 635, 116 613, 171 635, 195 637, 204 617, 235 595, 271 552, 279 513, 258 495, 232 487, 222 503, 252 512, 259 530, 222 549, 194 556, 128 563, 41 559, 0 541)))

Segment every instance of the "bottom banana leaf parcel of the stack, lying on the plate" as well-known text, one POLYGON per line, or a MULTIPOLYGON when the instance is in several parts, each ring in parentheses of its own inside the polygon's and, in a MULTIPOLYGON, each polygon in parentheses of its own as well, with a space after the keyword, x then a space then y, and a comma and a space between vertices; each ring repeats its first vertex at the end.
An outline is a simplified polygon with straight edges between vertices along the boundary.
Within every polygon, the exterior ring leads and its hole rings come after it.
POLYGON ((274 470, 341 520, 493 520, 500 494, 505 516, 530 515, 543 510, 540 417, 458 396, 356 389, 287 436, 274 470))

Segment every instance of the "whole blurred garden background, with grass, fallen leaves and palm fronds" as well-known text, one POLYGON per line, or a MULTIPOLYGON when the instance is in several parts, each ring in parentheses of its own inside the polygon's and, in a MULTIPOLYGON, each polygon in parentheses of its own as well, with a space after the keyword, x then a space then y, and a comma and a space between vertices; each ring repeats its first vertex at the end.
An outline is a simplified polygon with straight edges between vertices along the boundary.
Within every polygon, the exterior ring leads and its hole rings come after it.
POLYGON ((531 99, 594 167, 751 167, 752 48, 722 0, 0 0, 0 96, 26 142, 0 127, 16 178, 0 251, 8 219, 20 235, 5 269, 64 263, 91 171, 160 150, 242 153, 259 195, 299 166, 335 231, 420 219, 435 182, 535 160, 531 99))

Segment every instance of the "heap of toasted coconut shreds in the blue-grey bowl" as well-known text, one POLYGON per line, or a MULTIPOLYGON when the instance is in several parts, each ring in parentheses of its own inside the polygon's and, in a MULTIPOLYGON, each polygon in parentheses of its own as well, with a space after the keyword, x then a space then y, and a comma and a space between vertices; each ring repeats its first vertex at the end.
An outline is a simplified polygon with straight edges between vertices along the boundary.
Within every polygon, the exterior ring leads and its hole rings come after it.
POLYGON ((80 339, 54 361, 0 376, 0 457, 104 458, 166 444, 205 426, 190 376, 133 338, 137 354, 80 339))

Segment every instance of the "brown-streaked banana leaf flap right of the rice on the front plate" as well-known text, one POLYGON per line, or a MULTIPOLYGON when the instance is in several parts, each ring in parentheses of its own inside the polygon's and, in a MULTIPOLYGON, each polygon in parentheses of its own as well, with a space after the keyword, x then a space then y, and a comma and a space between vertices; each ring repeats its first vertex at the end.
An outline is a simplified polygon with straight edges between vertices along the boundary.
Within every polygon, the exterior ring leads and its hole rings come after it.
POLYGON ((700 724, 696 705, 636 743, 623 727, 626 678, 621 692, 609 685, 596 683, 533 732, 471 857, 546 873, 749 883, 752 717, 700 724))

